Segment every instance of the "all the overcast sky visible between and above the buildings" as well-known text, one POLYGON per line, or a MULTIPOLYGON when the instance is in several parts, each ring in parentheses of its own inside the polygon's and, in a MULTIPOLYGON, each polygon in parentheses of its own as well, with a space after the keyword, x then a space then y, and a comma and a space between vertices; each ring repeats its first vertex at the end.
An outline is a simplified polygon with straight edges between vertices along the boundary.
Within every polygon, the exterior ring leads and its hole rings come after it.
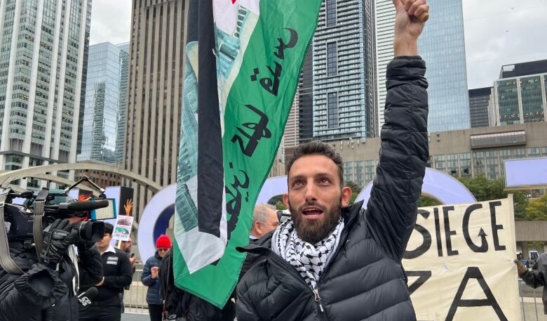
MULTIPOLYGON (((547 59, 547 0, 462 1, 469 89, 492 86, 501 65, 547 59)), ((131 2, 93 0, 90 44, 129 41, 131 2)))

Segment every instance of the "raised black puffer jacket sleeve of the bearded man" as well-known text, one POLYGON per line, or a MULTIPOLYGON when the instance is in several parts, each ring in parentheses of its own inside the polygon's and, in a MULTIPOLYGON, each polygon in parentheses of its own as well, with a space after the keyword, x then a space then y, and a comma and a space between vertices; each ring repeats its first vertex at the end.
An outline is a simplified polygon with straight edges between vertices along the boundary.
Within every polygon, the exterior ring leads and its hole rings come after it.
POLYGON ((416 223, 429 157, 425 72, 419 56, 394 58, 387 67, 385 124, 366 221, 374 240, 397 260, 416 223))

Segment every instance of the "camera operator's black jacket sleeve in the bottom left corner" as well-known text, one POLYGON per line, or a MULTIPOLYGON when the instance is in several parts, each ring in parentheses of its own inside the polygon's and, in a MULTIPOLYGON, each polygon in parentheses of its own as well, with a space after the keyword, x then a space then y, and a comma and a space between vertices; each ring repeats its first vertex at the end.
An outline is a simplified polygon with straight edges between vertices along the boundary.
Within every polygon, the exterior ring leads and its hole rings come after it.
POLYGON ((65 282, 42 264, 35 264, 23 275, 0 268, 0 320, 31 320, 67 293, 65 282))

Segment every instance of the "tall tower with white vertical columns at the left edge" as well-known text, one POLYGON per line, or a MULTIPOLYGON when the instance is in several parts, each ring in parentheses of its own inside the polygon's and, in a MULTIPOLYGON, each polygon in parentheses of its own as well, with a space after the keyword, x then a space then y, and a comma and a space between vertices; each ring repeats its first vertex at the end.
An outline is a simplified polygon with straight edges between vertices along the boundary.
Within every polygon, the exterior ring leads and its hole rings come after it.
POLYGON ((0 2, 0 170, 76 162, 90 15, 90 0, 0 2))

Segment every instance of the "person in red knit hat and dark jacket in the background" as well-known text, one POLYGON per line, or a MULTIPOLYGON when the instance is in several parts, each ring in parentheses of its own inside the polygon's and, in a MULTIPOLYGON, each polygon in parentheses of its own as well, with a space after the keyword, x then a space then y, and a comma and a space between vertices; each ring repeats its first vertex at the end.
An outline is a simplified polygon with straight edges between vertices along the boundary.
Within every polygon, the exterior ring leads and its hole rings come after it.
POLYGON ((156 254, 147 260, 147 263, 144 264, 144 270, 142 270, 140 280, 142 284, 148 287, 147 303, 150 321, 161 321, 163 297, 158 279, 158 267, 161 264, 161 259, 172 246, 171 239, 167 235, 160 235, 156 240, 156 254))

